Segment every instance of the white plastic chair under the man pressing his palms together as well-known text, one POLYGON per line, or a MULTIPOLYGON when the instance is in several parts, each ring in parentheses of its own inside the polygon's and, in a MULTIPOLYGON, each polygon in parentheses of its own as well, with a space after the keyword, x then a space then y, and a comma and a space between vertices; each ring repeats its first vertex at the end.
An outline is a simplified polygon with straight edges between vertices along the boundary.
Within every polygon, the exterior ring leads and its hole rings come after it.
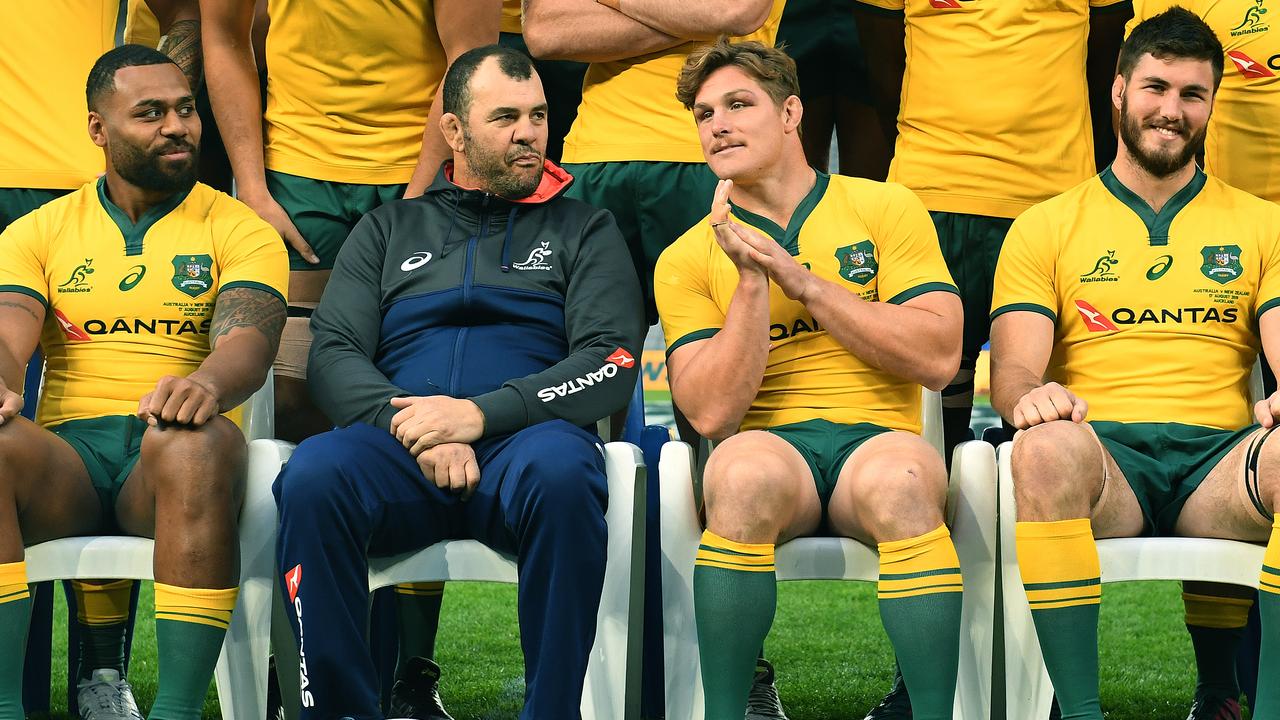
MULTIPOLYGON (((925 439, 942 446, 942 410, 924 392, 925 439)), ((694 454, 684 442, 662 448, 662 618, 667 717, 703 720, 704 698, 694 624, 694 556, 703 534, 694 501, 694 454)), ((996 454, 973 441, 956 447, 947 492, 947 524, 964 575, 960 674, 955 716, 991 717, 991 662, 996 600, 996 454)), ((849 538, 796 538, 778 546, 777 579, 865 580, 879 578, 879 556, 849 538)))

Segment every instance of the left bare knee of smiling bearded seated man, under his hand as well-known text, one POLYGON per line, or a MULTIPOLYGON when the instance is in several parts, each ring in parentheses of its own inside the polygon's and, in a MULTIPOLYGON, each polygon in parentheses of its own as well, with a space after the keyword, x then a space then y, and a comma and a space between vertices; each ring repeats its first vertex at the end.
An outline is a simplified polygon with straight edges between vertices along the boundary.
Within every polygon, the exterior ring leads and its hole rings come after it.
POLYGON ((1014 439, 1014 493, 1019 503, 1089 506, 1101 489, 1103 461, 1097 438, 1079 423, 1032 427, 1014 439))

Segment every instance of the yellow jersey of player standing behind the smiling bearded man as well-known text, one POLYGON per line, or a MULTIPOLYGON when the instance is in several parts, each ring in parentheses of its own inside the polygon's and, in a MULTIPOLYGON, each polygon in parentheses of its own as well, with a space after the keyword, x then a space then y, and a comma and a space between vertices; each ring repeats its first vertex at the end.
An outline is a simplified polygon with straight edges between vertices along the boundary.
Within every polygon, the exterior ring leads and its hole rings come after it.
POLYGON ((1204 137, 1204 170, 1280 202, 1280 138, 1274 133, 1280 127, 1280 0, 1134 0, 1125 35, 1174 5, 1203 18, 1226 53, 1204 137))

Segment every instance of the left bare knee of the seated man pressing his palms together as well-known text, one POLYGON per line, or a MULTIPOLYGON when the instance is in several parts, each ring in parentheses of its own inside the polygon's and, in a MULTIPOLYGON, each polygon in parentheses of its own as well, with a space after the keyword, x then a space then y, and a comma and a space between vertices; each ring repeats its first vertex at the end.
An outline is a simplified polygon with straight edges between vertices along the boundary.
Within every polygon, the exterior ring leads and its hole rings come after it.
POLYGON ((781 532, 799 502, 800 483, 788 482, 797 480, 792 478, 795 468, 773 452, 772 443, 762 442, 764 436, 763 432, 736 434, 708 459, 703 496, 713 532, 719 528, 735 534, 735 528, 748 524, 781 532))

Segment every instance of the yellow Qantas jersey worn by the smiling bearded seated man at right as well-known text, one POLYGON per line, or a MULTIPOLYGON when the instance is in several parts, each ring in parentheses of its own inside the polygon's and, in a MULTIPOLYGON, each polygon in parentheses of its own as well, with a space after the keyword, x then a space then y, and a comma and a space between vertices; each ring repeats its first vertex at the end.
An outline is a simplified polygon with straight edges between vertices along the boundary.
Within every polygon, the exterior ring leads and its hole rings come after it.
POLYGON ((1242 428, 1256 318, 1280 305, 1277 243, 1272 202, 1197 170, 1152 213, 1107 168, 1014 222, 992 318, 1053 319, 1046 379, 1089 419, 1242 428))

